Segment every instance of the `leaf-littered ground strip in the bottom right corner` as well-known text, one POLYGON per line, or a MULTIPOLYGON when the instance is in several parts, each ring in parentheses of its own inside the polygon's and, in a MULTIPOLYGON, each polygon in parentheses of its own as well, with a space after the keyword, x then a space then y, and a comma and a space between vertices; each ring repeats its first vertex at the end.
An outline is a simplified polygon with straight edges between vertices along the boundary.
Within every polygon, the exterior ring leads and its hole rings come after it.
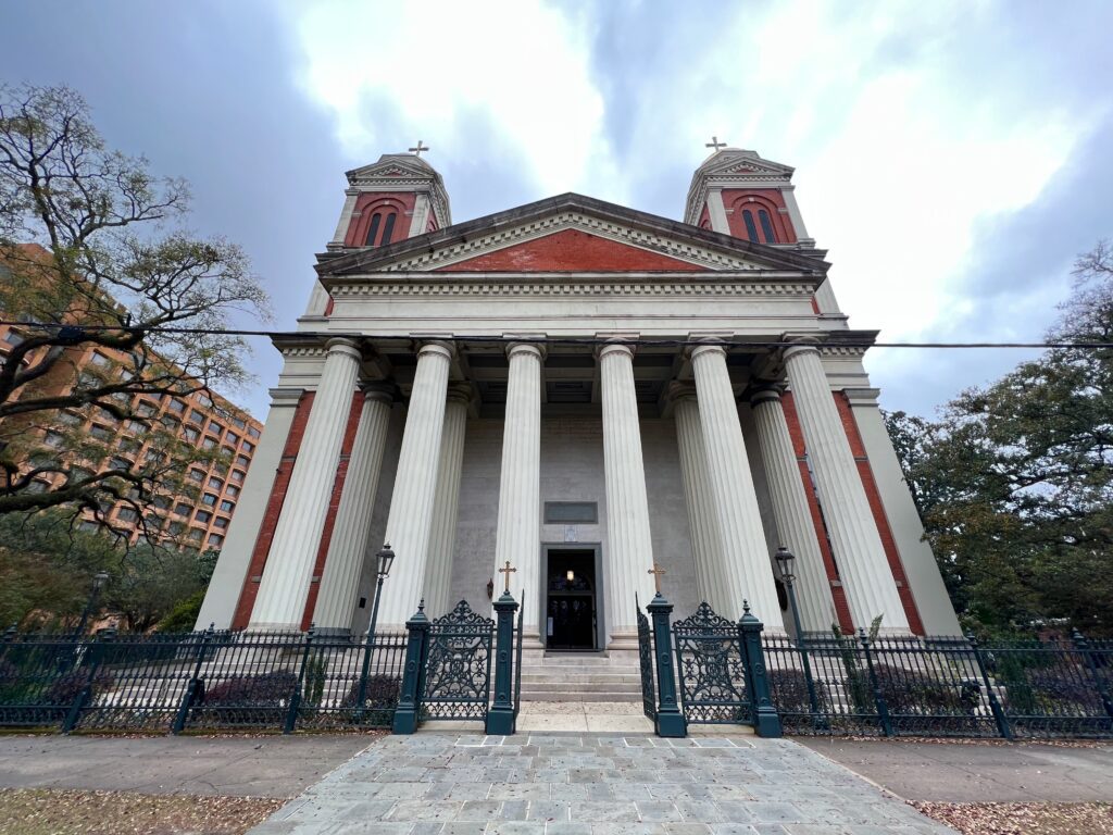
POLYGON ((963 835, 1104 835, 1113 833, 1109 803, 914 803, 963 835))

